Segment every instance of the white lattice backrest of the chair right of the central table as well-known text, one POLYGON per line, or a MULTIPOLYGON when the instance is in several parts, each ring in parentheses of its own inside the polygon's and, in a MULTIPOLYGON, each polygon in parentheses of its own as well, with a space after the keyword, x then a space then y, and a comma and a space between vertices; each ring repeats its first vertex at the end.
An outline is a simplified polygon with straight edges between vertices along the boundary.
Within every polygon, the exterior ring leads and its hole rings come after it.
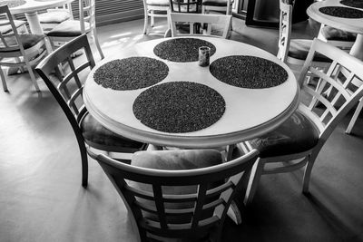
POLYGON ((299 77, 301 92, 307 94, 309 102, 300 102, 299 110, 319 129, 318 150, 363 96, 362 81, 363 62, 335 46, 314 39, 299 77), (312 60, 315 53, 333 61, 328 71, 314 67, 312 60), (318 87, 308 85, 308 75, 319 79, 318 87))

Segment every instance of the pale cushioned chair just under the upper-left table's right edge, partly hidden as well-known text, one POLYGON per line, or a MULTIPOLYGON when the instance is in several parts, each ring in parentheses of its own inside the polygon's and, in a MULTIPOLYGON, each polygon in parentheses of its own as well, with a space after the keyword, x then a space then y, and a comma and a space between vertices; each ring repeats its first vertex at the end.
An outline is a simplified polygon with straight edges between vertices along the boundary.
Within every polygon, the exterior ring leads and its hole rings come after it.
POLYGON ((38 19, 44 33, 48 33, 56 25, 61 24, 66 20, 74 19, 72 5, 66 4, 62 7, 48 9, 46 13, 38 15, 38 19))

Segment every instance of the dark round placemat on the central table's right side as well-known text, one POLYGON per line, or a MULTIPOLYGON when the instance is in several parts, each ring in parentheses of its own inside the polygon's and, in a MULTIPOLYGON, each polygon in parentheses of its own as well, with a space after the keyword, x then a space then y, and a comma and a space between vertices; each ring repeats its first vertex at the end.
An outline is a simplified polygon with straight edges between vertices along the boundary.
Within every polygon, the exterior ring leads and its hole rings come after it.
POLYGON ((221 82, 250 89, 278 86, 289 77, 279 64, 249 55, 217 59, 211 63, 210 72, 221 82))

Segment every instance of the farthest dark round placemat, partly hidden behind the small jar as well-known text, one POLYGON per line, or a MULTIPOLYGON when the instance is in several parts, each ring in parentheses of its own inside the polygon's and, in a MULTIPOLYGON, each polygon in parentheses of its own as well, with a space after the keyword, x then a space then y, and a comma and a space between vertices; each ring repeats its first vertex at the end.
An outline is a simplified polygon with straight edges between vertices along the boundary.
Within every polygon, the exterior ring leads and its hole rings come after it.
POLYGON ((195 38, 177 38, 164 41, 153 48, 153 53, 160 58, 176 63, 190 63, 198 61, 199 47, 211 48, 211 55, 216 48, 208 41, 195 38))

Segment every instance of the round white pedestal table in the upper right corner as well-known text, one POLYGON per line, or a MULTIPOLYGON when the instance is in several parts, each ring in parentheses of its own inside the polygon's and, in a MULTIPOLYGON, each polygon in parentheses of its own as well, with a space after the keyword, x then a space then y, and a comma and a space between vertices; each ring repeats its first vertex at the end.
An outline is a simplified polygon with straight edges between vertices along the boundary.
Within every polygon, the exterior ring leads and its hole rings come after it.
MULTIPOLYGON (((363 18, 342 18, 335 17, 331 15, 325 15, 319 11, 320 7, 325 6, 340 6, 340 7, 350 7, 347 5, 340 4, 341 0, 326 0, 321 2, 316 2, 309 6, 307 9, 307 14, 309 17, 318 21, 321 24, 326 24, 334 28, 338 28, 351 33, 356 33, 357 39, 350 49, 350 54, 363 60, 363 18)), ((354 8, 354 7, 351 7, 354 8)), ((363 9, 356 8, 360 11, 363 9)))

